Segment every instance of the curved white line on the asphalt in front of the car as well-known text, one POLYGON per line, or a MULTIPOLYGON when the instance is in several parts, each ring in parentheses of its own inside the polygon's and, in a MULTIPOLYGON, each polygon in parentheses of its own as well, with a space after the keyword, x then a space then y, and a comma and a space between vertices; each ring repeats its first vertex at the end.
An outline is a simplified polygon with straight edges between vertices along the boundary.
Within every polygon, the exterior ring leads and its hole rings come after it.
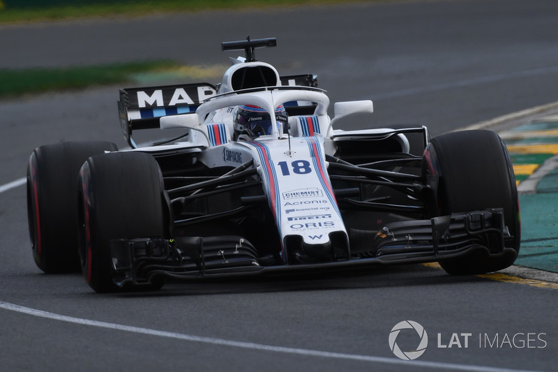
MULTIPOLYGON (((192 341, 198 343, 209 343, 211 345, 220 345, 220 346, 230 346, 234 348, 243 348, 243 349, 250 349, 250 350, 261 350, 261 351, 268 351, 268 352, 284 352, 288 354, 296 354, 296 355, 304 355, 306 357, 322 357, 322 358, 333 358, 333 359, 348 359, 348 360, 357 360, 361 362, 372 362, 372 363, 383 363, 383 364, 397 364, 402 366, 409 366, 412 368, 416 367, 425 367, 429 369, 444 369, 446 371, 485 371, 485 372, 522 372, 523 370, 518 369, 503 369, 497 367, 488 367, 488 366, 473 366, 467 364, 454 364, 454 363, 444 363, 444 362, 425 362, 425 361, 406 361, 401 359, 395 358, 387 358, 387 357, 375 357, 371 355, 356 355, 356 354, 345 354, 342 352, 328 352, 328 351, 319 351, 319 350, 308 350, 308 349, 299 349, 299 348, 285 348, 282 346, 273 346, 273 345, 263 345, 260 343, 250 343, 250 342, 243 342, 243 341, 232 341, 232 340, 225 340, 223 338, 213 338, 213 337, 202 337, 202 336, 193 336, 190 334, 180 334, 176 332, 165 332, 165 331, 158 331, 156 329, 149 329, 149 328, 142 328, 142 327, 133 327, 129 325, 119 325, 114 323, 108 322, 99 322, 97 320, 89 320, 89 319, 82 319, 82 318, 75 318, 72 316, 67 315, 60 315, 56 313, 49 313, 47 311, 37 310, 35 308, 28 308, 25 306, 9 304, 8 302, 0 302, 0 308, 9 310, 9 311, 16 311, 17 313, 24 313, 27 315, 38 316, 40 318, 47 318, 51 320, 60 320, 62 322, 69 322, 78 325, 89 325, 91 327, 100 327, 100 328, 107 328, 107 329, 114 329, 118 331, 125 331, 125 332, 133 332, 136 334, 145 334, 148 336, 158 336, 158 337, 167 337, 167 338, 174 338, 181 341, 192 341)), ((386 337, 386 344, 387 344, 387 337, 386 337)), ((533 372, 533 371, 530 371, 533 372)))

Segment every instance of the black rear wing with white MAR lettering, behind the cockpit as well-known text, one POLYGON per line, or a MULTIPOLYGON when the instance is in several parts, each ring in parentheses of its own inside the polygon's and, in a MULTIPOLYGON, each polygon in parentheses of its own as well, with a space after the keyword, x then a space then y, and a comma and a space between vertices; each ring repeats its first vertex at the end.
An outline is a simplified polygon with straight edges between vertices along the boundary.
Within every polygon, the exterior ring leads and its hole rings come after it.
MULTIPOLYGON (((284 86, 317 87, 316 75, 289 75, 280 79, 284 86)), ((133 131, 160 128, 161 117, 196 112, 199 105, 217 93, 218 87, 208 82, 120 89, 118 109, 122 133, 130 147, 136 148, 133 131)), ((289 114, 314 112, 314 107, 312 103, 285 104, 289 114)))

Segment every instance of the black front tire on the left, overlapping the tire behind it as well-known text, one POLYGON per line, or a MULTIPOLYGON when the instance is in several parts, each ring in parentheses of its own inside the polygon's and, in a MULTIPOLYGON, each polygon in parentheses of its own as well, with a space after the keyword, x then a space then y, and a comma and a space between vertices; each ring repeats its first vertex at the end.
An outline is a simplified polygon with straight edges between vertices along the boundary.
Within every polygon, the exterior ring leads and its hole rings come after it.
MULTIPOLYGON (((80 170, 79 190, 85 279, 96 292, 121 290, 113 281, 110 240, 169 235, 159 165, 153 156, 135 151, 92 156, 80 170)), ((151 289, 163 286, 151 284, 151 289)))

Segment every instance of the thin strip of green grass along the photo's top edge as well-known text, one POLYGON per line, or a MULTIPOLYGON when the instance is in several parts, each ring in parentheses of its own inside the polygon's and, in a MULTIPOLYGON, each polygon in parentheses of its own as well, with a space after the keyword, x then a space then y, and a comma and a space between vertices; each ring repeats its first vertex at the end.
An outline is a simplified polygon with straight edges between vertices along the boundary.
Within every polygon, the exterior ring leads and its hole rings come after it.
POLYGON ((84 17, 128 17, 153 13, 198 12, 201 10, 264 8, 268 6, 343 2, 349 2, 349 0, 0 0, 0 22, 36 22, 84 17), (48 5, 49 3, 51 5, 48 5), (67 5, 68 3, 72 5, 67 5))

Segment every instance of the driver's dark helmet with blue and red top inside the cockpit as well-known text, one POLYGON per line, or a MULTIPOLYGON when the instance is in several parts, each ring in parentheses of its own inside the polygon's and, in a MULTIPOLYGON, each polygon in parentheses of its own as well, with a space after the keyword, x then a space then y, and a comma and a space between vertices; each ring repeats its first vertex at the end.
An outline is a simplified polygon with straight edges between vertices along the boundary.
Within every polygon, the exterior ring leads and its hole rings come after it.
MULTIPOLYGON (((288 117, 285 107, 280 105, 275 109, 277 129, 279 135, 287 133, 288 117)), ((260 135, 270 135, 271 118, 262 107, 252 105, 240 105, 234 111, 234 140, 255 140, 260 135)))

